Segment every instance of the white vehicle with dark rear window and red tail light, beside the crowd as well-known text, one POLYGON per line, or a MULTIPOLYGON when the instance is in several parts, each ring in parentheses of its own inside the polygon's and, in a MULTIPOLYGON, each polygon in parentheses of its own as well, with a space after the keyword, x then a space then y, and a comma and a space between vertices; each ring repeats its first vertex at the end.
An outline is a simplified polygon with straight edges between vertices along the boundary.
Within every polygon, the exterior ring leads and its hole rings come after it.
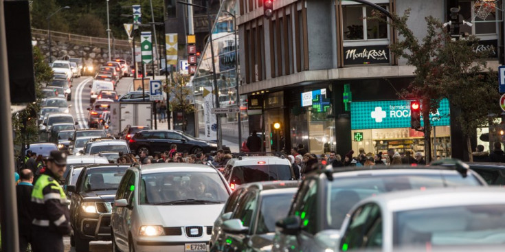
POLYGON ((245 183, 295 180, 289 159, 275 156, 231 159, 223 170, 223 176, 232 190, 245 183))

